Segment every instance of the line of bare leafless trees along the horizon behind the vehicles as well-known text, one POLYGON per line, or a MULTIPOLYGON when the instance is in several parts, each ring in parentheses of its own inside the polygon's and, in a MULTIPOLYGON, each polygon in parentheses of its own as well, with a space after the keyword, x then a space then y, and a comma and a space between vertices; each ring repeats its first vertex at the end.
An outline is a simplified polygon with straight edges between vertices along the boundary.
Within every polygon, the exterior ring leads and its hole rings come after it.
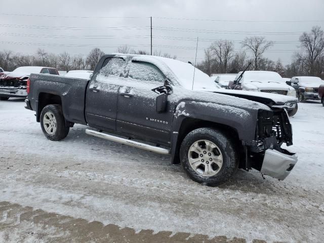
MULTIPOLYGON (((312 27, 310 32, 304 32, 299 37, 300 52, 293 55, 291 64, 282 65, 278 59, 270 60, 263 56, 264 52, 273 47, 274 42, 267 41, 263 36, 246 37, 240 43, 241 50, 235 51, 232 41, 220 40, 213 42, 205 50, 205 58, 197 64, 197 67, 212 73, 237 73, 244 70, 251 62, 250 70, 275 71, 284 77, 296 75, 319 76, 324 78, 324 33, 319 26, 312 27), (252 55, 248 55, 252 54, 252 55)), ((145 50, 134 50, 130 46, 120 46, 118 53, 150 55, 145 50)), ((12 51, 0 52, 0 67, 6 71, 12 71, 19 66, 49 66, 58 70, 87 69, 94 70, 104 52, 94 48, 87 56, 70 55, 67 52, 61 54, 48 53, 44 49, 38 49, 34 55, 17 54, 12 51)), ((163 56, 176 59, 169 53, 154 51, 154 56, 163 56)))

